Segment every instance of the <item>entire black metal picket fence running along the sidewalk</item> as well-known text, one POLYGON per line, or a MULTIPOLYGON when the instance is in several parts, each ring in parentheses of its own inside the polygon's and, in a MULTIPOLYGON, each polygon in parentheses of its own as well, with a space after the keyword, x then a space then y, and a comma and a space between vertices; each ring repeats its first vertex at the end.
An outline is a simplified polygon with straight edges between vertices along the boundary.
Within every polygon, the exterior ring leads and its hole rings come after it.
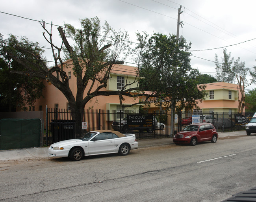
MULTIPOLYGON (((128 114, 152 114, 153 127, 149 130, 132 130, 137 139, 164 138, 171 136, 171 112, 170 111, 117 111, 102 109, 87 109, 76 116, 67 109, 46 109, 46 145, 65 139, 72 139, 93 130, 119 130, 127 133, 124 125, 128 114), (78 120, 76 120, 78 119, 78 120), (118 126, 118 127, 117 127, 118 126)), ((175 116, 174 134, 181 131, 186 124, 182 124, 185 117, 192 117, 192 113, 178 112, 175 116)), ((208 113, 200 114, 200 122, 211 122, 218 131, 241 130, 241 124, 235 123, 235 114, 232 113, 208 113), (209 118, 211 119, 205 119, 209 118)), ((190 123, 187 123, 190 124, 190 123)))

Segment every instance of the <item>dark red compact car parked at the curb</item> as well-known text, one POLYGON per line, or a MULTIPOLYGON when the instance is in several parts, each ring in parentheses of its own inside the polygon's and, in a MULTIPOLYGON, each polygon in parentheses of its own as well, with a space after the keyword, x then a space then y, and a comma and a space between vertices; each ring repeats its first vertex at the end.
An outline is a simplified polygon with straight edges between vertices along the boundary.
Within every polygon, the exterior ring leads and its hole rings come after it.
POLYGON ((173 137, 173 142, 178 144, 196 145, 198 142, 211 141, 215 143, 218 138, 213 124, 211 123, 198 123, 186 126, 184 130, 178 132, 173 137))

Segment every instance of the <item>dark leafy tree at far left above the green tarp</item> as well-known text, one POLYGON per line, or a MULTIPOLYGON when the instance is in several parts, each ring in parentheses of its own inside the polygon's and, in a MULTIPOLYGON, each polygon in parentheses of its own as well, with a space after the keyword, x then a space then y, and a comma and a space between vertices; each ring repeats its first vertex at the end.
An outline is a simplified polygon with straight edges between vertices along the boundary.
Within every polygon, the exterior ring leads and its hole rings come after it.
MULTIPOLYGON (((26 103, 33 106, 35 100, 42 95, 43 82, 38 78, 30 78, 28 74, 22 76, 12 74, 11 71, 24 70, 8 55, 8 52, 14 51, 14 45, 18 43, 17 37, 10 35, 6 41, 0 34, 0 39, 0 111, 16 111, 17 107, 24 108, 26 103)), ((43 52, 36 47, 37 44, 29 43, 25 37, 21 38, 19 45, 37 54, 43 52)))

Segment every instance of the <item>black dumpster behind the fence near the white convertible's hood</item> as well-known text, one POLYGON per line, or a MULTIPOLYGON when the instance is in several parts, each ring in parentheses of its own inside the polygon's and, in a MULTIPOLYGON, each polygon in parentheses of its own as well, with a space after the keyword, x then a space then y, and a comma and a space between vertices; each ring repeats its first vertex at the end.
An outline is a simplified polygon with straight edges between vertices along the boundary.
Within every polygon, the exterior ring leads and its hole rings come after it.
POLYGON ((76 129, 76 120, 52 119, 50 122, 50 131, 52 133, 52 142, 74 139, 76 129))

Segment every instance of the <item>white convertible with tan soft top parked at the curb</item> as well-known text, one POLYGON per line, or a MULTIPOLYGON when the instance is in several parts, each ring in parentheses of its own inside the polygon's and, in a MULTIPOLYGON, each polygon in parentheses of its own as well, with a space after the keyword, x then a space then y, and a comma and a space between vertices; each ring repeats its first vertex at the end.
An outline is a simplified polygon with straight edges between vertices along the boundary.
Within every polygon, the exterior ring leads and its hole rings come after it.
POLYGON ((52 144, 48 148, 50 156, 69 157, 79 161, 83 156, 119 153, 129 154, 131 149, 137 149, 135 134, 122 134, 112 130, 91 131, 79 139, 69 139, 52 144))

